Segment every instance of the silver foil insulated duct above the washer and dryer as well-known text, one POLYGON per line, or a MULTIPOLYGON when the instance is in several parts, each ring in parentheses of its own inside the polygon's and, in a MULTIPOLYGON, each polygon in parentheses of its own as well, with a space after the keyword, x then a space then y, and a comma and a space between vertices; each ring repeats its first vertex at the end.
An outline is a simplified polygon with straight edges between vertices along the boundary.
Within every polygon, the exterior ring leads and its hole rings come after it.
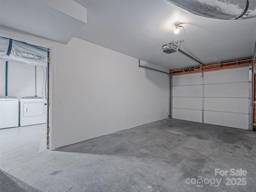
POLYGON ((47 67, 47 50, 4 37, 0 37, 0 58, 47 67))

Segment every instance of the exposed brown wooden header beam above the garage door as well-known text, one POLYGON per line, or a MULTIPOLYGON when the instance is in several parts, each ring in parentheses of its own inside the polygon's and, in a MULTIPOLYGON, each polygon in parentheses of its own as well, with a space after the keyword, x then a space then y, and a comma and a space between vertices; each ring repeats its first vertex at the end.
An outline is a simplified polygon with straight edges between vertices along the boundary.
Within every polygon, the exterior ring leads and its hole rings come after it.
POLYGON ((218 69, 225 69, 225 68, 232 68, 232 67, 239 67, 239 66, 247 66, 252 64, 253 57, 236 59, 236 60, 229 60, 224 62, 218 63, 211 63, 206 65, 198 65, 194 67, 182 68, 178 70, 170 70, 170 75, 180 75, 180 74, 188 74, 188 73, 196 73, 202 71, 210 71, 210 70, 218 70, 218 69))

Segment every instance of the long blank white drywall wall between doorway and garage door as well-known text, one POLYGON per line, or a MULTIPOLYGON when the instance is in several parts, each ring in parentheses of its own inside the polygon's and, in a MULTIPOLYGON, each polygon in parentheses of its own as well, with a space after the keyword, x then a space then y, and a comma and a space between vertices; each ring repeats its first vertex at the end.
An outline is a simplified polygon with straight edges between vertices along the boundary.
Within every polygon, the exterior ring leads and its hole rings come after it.
POLYGON ((168 118, 167 74, 78 38, 56 44, 54 82, 56 148, 168 118))

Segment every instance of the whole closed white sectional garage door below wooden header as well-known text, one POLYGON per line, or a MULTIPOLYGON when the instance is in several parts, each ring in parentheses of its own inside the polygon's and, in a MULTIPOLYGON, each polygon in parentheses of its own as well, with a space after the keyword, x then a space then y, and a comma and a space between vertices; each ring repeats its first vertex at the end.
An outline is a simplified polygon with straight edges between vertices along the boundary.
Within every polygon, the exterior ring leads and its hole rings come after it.
POLYGON ((171 116, 251 130, 251 66, 173 76, 171 116))

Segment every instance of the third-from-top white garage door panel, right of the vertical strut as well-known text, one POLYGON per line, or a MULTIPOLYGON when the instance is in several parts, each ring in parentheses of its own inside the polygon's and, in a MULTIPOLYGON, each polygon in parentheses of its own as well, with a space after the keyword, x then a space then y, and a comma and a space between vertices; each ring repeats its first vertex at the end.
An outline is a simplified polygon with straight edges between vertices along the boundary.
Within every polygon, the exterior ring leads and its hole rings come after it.
POLYGON ((248 98, 204 98, 204 110, 248 113, 248 98))

